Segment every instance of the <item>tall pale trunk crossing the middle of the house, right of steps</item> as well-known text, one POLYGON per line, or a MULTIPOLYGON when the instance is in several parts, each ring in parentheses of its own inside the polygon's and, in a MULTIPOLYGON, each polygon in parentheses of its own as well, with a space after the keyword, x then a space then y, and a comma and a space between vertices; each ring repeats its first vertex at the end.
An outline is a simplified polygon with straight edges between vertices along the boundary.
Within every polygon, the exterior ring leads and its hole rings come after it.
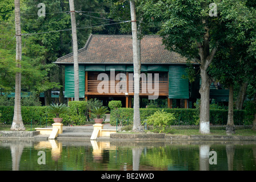
POLYGON ((141 117, 139 114, 139 60, 138 60, 138 36, 137 36, 137 23, 135 3, 130 1, 131 9, 131 31, 133 34, 133 66, 134 66, 134 117, 133 117, 133 130, 143 131, 141 125, 141 117))

